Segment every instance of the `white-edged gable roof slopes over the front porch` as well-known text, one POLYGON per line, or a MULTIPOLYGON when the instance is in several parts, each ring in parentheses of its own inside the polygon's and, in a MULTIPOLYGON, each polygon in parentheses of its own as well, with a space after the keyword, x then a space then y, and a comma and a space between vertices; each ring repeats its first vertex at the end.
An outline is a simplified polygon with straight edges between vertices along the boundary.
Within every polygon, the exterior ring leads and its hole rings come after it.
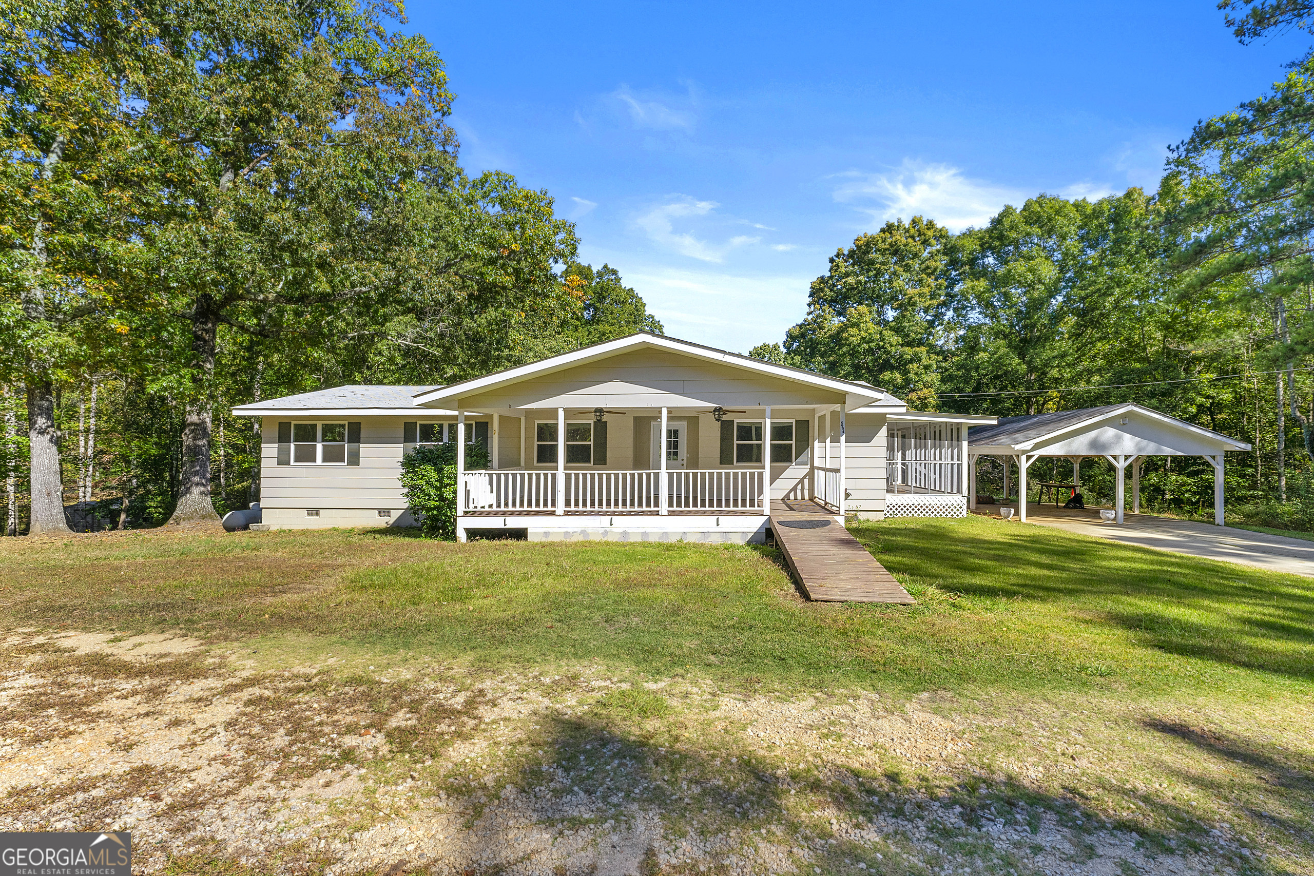
POLYGON ((540 377, 543 374, 549 374, 574 365, 582 365, 644 348, 683 353, 703 361, 721 362, 735 368, 756 372, 758 374, 769 374, 771 377, 779 377, 796 383, 817 386, 836 393, 845 393, 848 395, 857 397, 855 403, 861 406, 897 411, 907 408, 903 401, 882 389, 871 386, 870 383, 859 383, 855 381, 841 380, 838 377, 828 377, 827 374, 819 374, 802 368, 791 368, 788 365, 777 365, 775 362, 753 359, 752 356, 731 353, 724 349, 716 349, 715 347, 704 347, 692 341, 666 338, 665 335, 654 335, 646 331, 625 335, 624 338, 614 338, 612 340, 604 340, 599 344, 570 351, 569 353, 548 356, 547 359, 540 359, 539 361, 528 362, 527 365, 516 365, 514 368, 493 372, 491 374, 484 374, 482 377, 473 377, 457 383, 424 390, 415 394, 415 405, 428 406, 439 402, 455 402, 463 395, 484 393, 499 386, 515 383, 528 377, 540 377))

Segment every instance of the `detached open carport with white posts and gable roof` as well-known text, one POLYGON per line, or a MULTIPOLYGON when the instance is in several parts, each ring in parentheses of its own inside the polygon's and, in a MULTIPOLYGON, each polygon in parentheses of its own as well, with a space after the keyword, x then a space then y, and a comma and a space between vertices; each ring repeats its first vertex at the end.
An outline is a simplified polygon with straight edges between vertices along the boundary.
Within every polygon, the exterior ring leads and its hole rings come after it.
POLYGON ((1041 457, 1072 461, 1072 482, 1081 487, 1081 460, 1102 456, 1117 470, 1113 507, 1122 523, 1126 470, 1131 466, 1133 514, 1141 511, 1141 464, 1150 456, 1202 456, 1214 466, 1214 523, 1223 525, 1223 453, 1248 450, 1250 444, 1179 420, 1141 405, 1105 405, 1034 416, 1005 416, 995 426, 967 431, 967 465, 976 507, 976 461, 1003 457, 1008 495, 1009 461, 1017 464, 1018 519, 1026 520, 1026 469, 1041 457))

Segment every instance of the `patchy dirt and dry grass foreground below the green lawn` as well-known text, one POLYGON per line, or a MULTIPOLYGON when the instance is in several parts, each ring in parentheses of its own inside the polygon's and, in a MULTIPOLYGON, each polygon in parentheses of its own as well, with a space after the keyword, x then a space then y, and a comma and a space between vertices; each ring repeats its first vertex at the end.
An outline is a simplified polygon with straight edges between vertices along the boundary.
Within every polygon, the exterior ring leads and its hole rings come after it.
MULTIPOLYGON (((258 665, 168 634, 3 650, 0 830, 131 830, 142 872, 1310 872, 1281 797, 1265 833, 1192 812, 1198 783, 1120 772, 1130 724, 997 745, 1041 707, 992 721, 936 696, 415 655, 258 665)), ((1156 775, 1236 759, 1198 717, 1141 726, 1164 741, 1156 775), (1218 754, 1188 759, 1200 739, 1218 754)))

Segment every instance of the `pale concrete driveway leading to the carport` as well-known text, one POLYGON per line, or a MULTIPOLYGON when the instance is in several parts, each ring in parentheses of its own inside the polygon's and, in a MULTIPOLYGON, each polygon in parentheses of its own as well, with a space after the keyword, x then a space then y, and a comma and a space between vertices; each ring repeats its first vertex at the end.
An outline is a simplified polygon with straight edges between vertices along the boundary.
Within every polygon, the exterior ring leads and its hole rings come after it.
MULTIPOLYGON (((997 507, 982 506, 978 508, 978 511, 986 512, 992 510, 997 510, 997 507)), ((1066 511, 1055 508, 1053 504, 1026 506, 1026 523, 1079 532, 1083 536, 1109 538, 1127 545, 1172 550, 1193 557, 1239 562, 1244 566, 1314 578, 1314 541, 1269 536, 1233 527, 1213 527, 1206 523, 1173 520, 1172 517, 1155 517, 1147 514, 1127 514, 1123 520, 1125 523, 1120 527, 1100 520, 1097 510, 1066 511)))

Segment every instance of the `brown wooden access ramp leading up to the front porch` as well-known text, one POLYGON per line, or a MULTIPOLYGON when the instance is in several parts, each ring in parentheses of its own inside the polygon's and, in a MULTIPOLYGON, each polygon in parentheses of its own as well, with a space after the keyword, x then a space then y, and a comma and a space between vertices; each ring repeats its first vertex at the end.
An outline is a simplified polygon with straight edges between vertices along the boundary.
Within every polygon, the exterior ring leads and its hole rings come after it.
POLYGON ((916 602, 834 514, 815 502, 771 502, 771 532, 811 600, 905 605, 916 602))

